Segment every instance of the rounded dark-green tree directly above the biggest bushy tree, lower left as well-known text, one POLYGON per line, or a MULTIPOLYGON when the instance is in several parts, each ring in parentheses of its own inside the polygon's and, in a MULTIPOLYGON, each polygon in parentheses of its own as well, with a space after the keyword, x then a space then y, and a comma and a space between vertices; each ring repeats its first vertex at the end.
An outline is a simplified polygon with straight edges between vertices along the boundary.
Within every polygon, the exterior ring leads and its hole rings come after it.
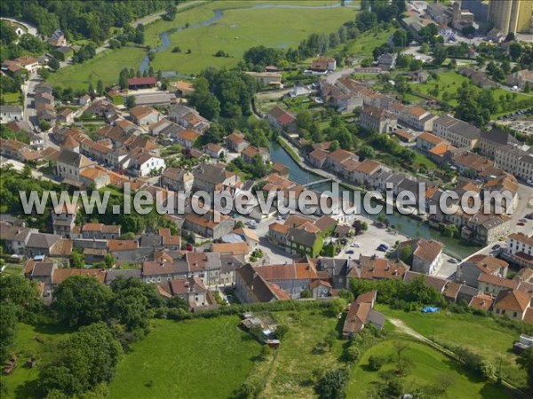
POLYGON ((52 307, 68 325, 89 325, 107 317, 111 296, 96 278, 73 276, 57 287, 52 307))

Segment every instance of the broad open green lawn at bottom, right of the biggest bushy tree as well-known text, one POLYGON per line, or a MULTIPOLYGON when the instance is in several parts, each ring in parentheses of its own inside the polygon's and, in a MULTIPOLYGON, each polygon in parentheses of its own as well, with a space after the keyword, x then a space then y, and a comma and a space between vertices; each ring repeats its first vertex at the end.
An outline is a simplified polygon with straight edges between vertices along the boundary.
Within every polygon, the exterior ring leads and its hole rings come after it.
POLYGON ((111 398, 228 397, 260 348, 238 324, 238 317, 156 320, 118 365, 111 398))

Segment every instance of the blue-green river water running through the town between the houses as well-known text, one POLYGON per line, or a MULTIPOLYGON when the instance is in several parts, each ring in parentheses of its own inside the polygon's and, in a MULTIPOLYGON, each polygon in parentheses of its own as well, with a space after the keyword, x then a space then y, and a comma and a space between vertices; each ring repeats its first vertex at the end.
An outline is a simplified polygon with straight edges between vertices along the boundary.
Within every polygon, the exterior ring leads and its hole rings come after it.
MULTIPOLYGON (((273 162, 280 162, 283 165, 286 165, 289 168, 289 178, 293 182, 298 184, 307 184, 317 180, 322 180, 322 177, 316 176, 313 173, 300 168, 298 163, 290 158, 289 153, 287 153, 282 146, 278 145, 276 142, 273 142, 272 145, 270 145, 270 159, 273 162)), ((330 191, 331 184, 325 183, 315 185, 312 187, 312 189, 319 192, 330 191)), ((372 220, 378 219, 378 215, 369 215, 364 212, 364 209, 361 210, 361 214, 369 217, 372 220)), ((400 231, 405 236, 412 238, 422 237, 425 239, 436 239, 441 241, 444 244, 445 252, 456 257, 457 259, 465 259, 470 254, 473 254, 481 248, 480 246, 468 246, 457 239, 444 237, 440 231, 432 229, 426 223, 420 222, 407 215, 401 215, 397 212, 394 212, 393 215, 386 215, 386 217, 388 218, 389 223, 394 225, 395 230, 400 231)))

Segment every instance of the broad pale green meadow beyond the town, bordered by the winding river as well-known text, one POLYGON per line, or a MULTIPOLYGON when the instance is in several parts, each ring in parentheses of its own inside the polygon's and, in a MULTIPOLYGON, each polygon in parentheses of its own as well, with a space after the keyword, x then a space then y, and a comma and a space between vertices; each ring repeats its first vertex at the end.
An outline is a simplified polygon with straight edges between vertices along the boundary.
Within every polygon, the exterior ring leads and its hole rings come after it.
MULTIPOLYGON (((322 0, 314 4, 330 2, 322 0)), ((206 66, 235 66, 242 59, 244 51, 253 46, 287 49, 297 45, 311 33, 329 34, 355 16, 355 11, 346 7, 250 8, 260 5, 257 2, 216 2, 180 13, 176 21, 173 21, 174 26, 183 27, 186 22, 192 25, 198 20, 208 20, 213 15, 212 10, 224 9, 223 17, 213 25, 190 27, 171 34, 171 45, 155 56, 154 68, 197 74, 206 66), (179 46, 182 52, 172 53, 174 46, 179 46), (191 54, 186 53, 187 49, 191 50, 191 54), (230 57, 214 57, 213 54, 219 50, 226 51, 230 57)), ((147 27, 148 42, 158 43, 157 33, 168 30, 167 28, 171 28, 170 24, 164 22, 156 22, 147 27)))

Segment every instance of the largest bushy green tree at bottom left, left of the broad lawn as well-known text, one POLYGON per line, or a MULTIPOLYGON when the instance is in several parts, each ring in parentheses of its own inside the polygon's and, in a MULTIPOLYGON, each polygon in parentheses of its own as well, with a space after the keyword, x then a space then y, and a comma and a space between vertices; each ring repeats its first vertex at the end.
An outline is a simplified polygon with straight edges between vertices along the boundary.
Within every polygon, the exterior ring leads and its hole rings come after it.
POLYGON ((62 340, 55 353, 39 374, 41 387, 46 393, 78 396, 113 378, 123 349, 107 326, 97 323, 62 340))

